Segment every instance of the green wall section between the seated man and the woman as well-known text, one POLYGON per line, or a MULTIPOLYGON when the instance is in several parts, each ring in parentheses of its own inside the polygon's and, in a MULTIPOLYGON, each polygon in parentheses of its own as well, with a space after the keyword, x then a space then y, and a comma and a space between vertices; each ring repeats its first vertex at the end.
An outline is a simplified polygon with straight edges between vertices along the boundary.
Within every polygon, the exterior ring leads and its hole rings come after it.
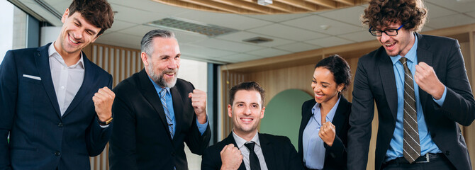
POLYGON ((298 89, 281 91, 267 104, 259 132, 289 137, 297 149, 302 104, 311 98, 305 91, 298 89))

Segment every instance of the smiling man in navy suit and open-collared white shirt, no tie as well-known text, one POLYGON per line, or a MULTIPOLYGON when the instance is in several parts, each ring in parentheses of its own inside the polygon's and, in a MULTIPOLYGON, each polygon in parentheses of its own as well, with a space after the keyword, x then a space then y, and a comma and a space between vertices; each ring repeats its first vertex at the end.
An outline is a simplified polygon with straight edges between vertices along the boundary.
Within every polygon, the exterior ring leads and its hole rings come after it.
POLYGON ((74 0, 61 21, 55 42, 0 65, 0 169, 90 169, 111 136, 112 76, 82 49, 111 28, 112 8, 74 0))

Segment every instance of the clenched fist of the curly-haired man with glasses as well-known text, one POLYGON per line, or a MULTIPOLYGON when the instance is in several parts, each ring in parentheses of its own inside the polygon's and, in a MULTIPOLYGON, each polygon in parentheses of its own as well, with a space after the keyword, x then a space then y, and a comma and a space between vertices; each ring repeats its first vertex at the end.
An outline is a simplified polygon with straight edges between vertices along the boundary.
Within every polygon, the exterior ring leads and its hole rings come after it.
POLYGON ((423 89, 423 91, 430 94, 436 100, 442 98, 445 86, 437 78, 434 69, 425 62, 419 62, 419 64, 415 65, 414 80, 420 89, 423 89))

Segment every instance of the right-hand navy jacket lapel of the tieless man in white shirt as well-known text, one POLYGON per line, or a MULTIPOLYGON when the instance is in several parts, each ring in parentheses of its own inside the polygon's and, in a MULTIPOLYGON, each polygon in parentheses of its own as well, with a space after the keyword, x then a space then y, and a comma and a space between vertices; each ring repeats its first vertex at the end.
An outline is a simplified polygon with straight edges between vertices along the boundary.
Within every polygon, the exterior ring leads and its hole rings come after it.
MULTIPOLYGON (((87 94, 91 94, 94 91, 93 90, 99 90, 99 89, 92 89, 92 87, 95 87, 96 81, 94 81, 96 77, 96 71, 92 70, 91 67, 91 61, 89 61, 86 57, 86 54, 82 54, 82 60, 84 61, 84 80, 82 81, 81 87, 76 93, 76 96, 71 101, 71 104, 67 107, 65 114, 62 115, 63 118, 66 117, 69 113, 71 113, 76 106, 78 106, 81 101, 83 101, 83 98, 87 96, 87 94)), ((102 87, 100 87, 102 88, 102 87)), ((92 98, 85 98, 86 100, 92 100, 92 98)))

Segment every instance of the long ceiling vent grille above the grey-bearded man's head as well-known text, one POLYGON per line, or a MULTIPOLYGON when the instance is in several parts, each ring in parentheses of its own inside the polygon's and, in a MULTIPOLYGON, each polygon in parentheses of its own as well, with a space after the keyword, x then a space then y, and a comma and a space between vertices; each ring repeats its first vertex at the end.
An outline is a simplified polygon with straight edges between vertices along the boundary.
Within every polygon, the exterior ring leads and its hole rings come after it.
POLYGON ((225 35, 228 33, 235 33, 239 30, 232 28, 225 28, 221 26, 213 26, 210 24, 197 23, 194 21, 185 21, 177 18, 163 18, 161 20, 152 21, 147 23, 149 26, 157 26, 164 28, 172 28, 178 30, 186 30, 193 33, 200 33, 209 37, 216 37, 218 35, 225 35))

